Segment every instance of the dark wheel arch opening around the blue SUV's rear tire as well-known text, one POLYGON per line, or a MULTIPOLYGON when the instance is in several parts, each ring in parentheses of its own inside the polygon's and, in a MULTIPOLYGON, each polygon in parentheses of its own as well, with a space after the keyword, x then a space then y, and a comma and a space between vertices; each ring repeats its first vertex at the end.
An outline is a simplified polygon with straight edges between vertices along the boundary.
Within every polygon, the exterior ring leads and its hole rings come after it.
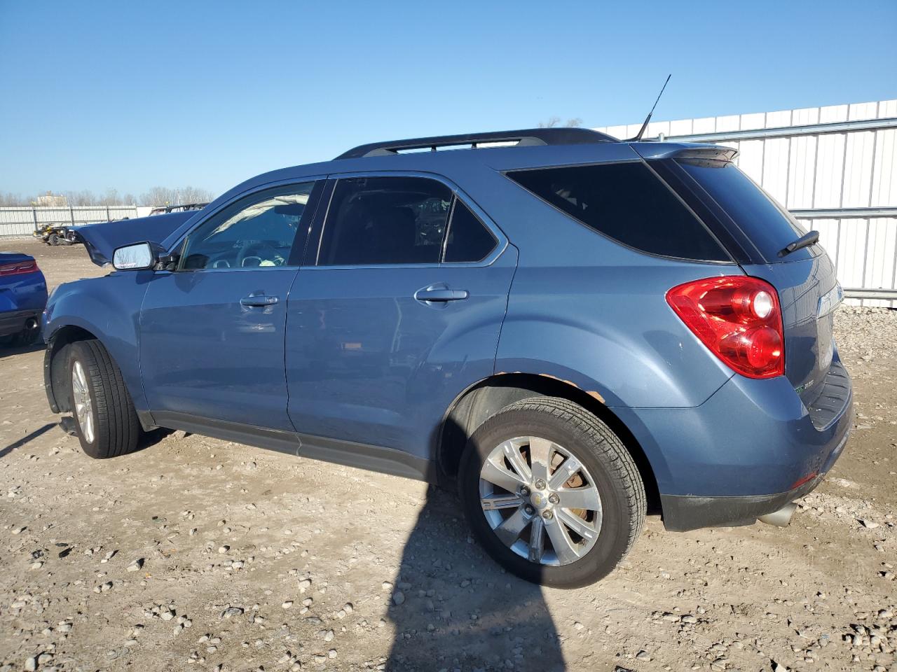
POLYGON ((467 439, 487 418, 510 403, 536 396, 572 401, 609 426, 638 467, 648 496, 649 513, 659 512, 660 495, 654 467, 630 428, 605 405, 597 392, 587 392, 570 381, 547 374, 496 374, 461 392, 449 406, 438 434, 435 461, 440 481, 455 480, 467 439))

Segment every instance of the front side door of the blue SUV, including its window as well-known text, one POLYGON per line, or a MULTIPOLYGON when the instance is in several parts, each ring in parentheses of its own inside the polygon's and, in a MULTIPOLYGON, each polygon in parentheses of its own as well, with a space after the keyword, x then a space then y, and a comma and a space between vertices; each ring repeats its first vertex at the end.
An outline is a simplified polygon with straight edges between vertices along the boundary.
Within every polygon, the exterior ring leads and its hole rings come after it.
POLYGON ((176 271, 153 275, 140 358, 158 424, 212 419, 292 431, 283 337, 315 184, 232 202, 188 234, 176 271))

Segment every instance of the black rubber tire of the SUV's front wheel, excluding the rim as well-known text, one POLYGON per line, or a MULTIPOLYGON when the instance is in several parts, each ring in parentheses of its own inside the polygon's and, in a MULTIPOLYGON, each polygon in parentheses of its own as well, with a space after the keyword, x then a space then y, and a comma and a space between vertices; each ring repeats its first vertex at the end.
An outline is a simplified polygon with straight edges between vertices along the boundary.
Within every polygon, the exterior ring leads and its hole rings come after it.
POLYGON ((74 426, 83 451, 100 460, 134 452, 143 430, 121 371, 99 340, 78 340, 72 344, 68 359, 68 378, 74 426), (75 362, 83 367, 87 377, 90 412, 93 414, 93 437, 90 441, 85 437, 75 411, 72 374, 75 362))

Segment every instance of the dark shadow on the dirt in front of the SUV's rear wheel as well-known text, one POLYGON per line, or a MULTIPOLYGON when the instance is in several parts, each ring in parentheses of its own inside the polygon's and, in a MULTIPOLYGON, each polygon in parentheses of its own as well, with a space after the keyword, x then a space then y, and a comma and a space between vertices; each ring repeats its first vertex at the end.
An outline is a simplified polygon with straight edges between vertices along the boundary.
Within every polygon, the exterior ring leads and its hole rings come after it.
POLYGON ((429 487, 388 608, 386 669, 565 669, 541 588, 505 573, 469 534, 457 498, 429 487))

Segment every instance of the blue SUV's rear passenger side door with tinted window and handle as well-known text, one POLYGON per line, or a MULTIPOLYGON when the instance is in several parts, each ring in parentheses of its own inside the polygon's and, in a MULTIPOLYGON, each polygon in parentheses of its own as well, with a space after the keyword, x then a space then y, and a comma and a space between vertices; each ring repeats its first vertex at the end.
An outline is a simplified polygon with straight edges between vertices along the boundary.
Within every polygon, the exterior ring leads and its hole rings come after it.
POLYGON ((288 306, 300 454, 429 455, 448 405, 494 366, 517 257, 487 222, 432 177, 335 182, 288 306))

